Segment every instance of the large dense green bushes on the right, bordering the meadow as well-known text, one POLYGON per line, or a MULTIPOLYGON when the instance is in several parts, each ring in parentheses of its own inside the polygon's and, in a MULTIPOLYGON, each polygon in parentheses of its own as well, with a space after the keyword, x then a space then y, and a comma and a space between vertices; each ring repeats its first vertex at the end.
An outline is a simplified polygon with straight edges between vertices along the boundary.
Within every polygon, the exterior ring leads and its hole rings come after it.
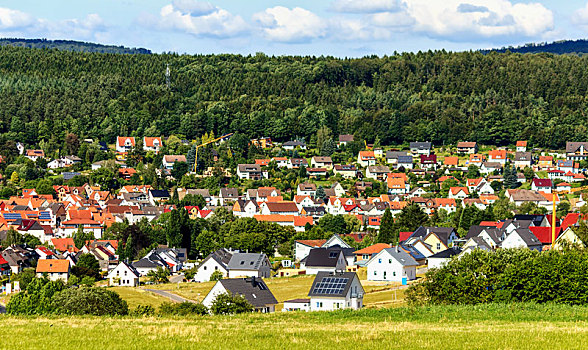
POLYGON ((588 304, 588 252, 476 250, 427 272, 407 291, 410 304, 556 302, 588 304))

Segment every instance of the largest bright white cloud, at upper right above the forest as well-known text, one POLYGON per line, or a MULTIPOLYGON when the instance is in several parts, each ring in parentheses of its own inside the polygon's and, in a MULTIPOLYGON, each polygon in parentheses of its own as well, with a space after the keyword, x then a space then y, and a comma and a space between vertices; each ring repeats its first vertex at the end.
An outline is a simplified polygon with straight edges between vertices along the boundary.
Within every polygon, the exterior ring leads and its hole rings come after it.
POLYGON ((553 30, 553 13, 539 3, 508 0, 404 0, 415 31, 450 41, 538 38, 553 30))

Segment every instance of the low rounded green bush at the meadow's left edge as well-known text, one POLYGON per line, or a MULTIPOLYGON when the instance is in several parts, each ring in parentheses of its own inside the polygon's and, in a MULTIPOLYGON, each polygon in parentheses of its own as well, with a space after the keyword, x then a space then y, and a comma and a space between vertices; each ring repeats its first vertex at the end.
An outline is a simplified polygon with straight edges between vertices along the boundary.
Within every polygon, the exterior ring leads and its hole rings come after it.
POLYGON ((55 312, 63 315, 126 315, 127 302, 106 288, 69 288, 53 297, 55 312))

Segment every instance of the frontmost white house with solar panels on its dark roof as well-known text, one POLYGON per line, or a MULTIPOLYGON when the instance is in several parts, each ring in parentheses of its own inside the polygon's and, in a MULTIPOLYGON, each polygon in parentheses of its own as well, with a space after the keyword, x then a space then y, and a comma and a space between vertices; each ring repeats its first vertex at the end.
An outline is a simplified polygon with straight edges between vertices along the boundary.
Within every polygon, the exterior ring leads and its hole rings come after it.
POLYGON ((310 311, 361 309, 363 295, 355 272, 319 272, 308 293, 310 311))

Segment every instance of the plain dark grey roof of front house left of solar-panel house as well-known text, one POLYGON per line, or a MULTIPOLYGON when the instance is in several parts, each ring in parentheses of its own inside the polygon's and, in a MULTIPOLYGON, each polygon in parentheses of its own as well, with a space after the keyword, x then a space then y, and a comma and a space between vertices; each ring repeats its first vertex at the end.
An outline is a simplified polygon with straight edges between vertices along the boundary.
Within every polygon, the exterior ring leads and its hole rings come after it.
POLYGON ((261 278, 228 278, 219 281, 233 295, 242 295, 254 307, 265 307, 278 303, 261 278))

